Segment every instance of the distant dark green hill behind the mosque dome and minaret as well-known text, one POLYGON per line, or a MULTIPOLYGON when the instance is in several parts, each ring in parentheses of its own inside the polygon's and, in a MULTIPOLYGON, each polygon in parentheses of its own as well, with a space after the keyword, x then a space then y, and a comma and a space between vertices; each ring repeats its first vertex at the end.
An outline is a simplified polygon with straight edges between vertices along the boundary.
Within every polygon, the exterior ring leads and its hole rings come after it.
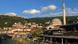
MULTIPOLYGON (((42 23, 45 24, 45 22, 52 21, 54 18, 59 18, 63 22, 63 17, 39 17, 39 18, 31 18, 30 21, 36 22, 36 23, 42 23)), ((78 16, 67 16, 67 24, 71 24, 75 21, 78 21, 78 16)))

